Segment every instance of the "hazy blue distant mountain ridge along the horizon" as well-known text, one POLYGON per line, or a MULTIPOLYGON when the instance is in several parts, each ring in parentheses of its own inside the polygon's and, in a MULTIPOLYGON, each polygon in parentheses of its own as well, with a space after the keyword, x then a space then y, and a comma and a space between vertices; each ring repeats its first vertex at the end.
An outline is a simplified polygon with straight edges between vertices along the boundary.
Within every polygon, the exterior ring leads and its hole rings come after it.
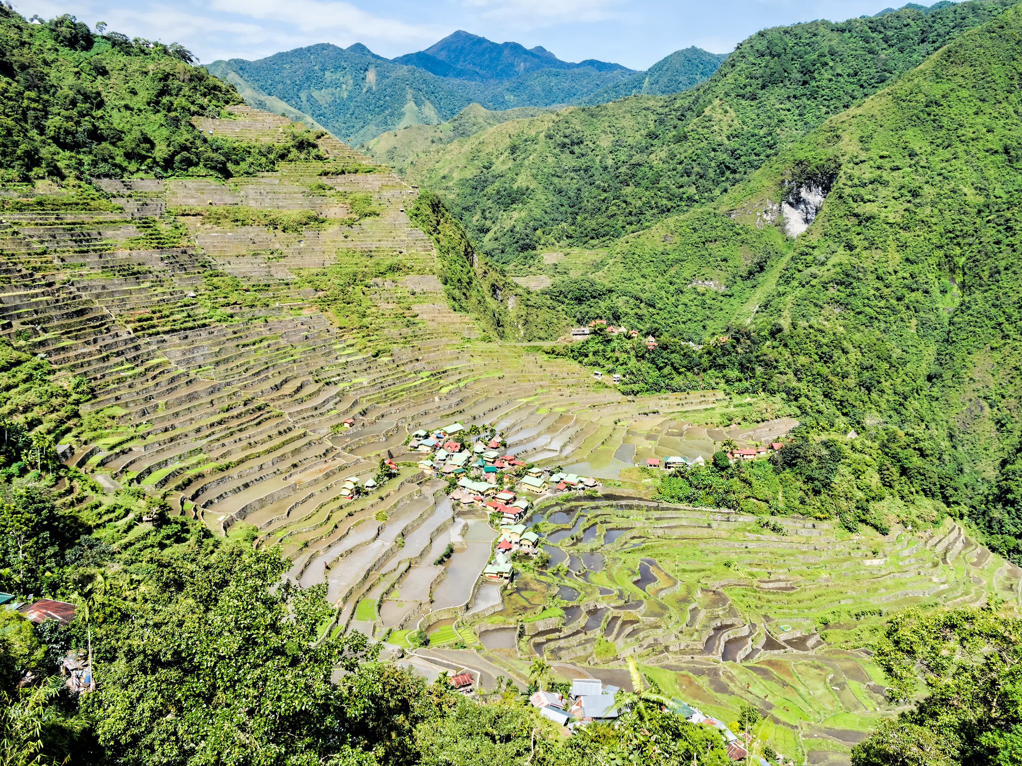
MULTIPOLYGON (((660 69, 651 67, 653 89, 690 87, 709 77, 723 58, 696 48, 676 52, 664 59, 671 62, 671 75, 657 78, 664 62, 658 62, 660 69)), ((549 107, 643 89, 635 81, 643 73, 620 64, 561 61, 541 46, 498 44, 464 32, 394 59, 361 43, 347 48, 318 43, 254 61, 218 60, 206 68, 232 83, 250 106, 310 128, 322 126, 352 144, 408 125, 445 123, 472 102, 490 110, 549 107)))

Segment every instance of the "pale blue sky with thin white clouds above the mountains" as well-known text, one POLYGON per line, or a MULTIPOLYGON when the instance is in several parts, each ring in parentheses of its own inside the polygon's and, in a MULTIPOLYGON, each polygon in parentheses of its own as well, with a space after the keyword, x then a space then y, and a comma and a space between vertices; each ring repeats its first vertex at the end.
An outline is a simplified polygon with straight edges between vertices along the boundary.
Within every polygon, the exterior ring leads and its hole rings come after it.
MULTIPOLYGON (((904 0, 895 5, 902 5, 904 0)), ((924 0, 924 4, 929 4, 924 0)), ((180 42, 202 61, 261 58, 314 43, 364 43, 391 58, 455 30, 542 45, 567 61, 598 58, 644 69, 696 45, 727 53, 757 30, 842 20, 883 0, 13 0, 48 18, 72 13, 131 37, 180 42)))

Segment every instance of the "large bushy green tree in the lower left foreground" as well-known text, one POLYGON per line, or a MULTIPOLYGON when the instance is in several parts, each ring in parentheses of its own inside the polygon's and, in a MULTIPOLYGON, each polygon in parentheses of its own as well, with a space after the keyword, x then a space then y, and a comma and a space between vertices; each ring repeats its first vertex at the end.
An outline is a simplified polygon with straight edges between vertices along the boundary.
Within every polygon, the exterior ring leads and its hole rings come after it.
MULTIPOLYGON (((375 657, 365 636, 321 636, 324 589, 282 583, 278 549, 150 555, 134 603, 90 615, 102 683, 83 710, 121 764, 362 762, 364 703, 331 683, 375 657), (257 754, 253 756, 253 754, 257 754)), ((380 691, 382 693, 382 691, 380 691)))

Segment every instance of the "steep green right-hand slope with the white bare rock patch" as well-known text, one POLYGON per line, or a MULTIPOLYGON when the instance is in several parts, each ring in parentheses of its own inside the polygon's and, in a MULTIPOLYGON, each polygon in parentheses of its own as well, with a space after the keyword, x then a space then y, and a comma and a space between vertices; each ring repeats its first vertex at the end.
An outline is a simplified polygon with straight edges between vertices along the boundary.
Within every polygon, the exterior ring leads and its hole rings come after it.
MULTIPOLYGON (((872 456, 863 477, 957 509, 1017 557, 1020 60, 1012 8, 825 123, 719 210, 624 238, 578 310, 667 337, 567 352, 623 372, 632 391, 709 380, 776 397, 810 433, 855 429, 872 456), (783 239, 765 217, 815 183, 819 216, 783 239), (725 287, 679 289, 689 275, 725 287), (728 339, 699 349, 669 339, 716 333, 728 339)), ((577 287, 548 292, 571 301, 577 287)), ((848 499, 877 499, 869 483, 848 499)))

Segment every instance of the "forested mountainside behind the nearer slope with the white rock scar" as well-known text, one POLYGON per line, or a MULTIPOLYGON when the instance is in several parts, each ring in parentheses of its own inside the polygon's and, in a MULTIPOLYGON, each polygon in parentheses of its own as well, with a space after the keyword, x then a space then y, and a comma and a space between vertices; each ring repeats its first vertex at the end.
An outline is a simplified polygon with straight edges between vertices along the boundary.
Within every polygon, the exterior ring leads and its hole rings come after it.
POLYGON ((604 242, 709 202, 1011 0, 765 30, 710 80, 516 123, 415 161, 491 256, 604 242))

